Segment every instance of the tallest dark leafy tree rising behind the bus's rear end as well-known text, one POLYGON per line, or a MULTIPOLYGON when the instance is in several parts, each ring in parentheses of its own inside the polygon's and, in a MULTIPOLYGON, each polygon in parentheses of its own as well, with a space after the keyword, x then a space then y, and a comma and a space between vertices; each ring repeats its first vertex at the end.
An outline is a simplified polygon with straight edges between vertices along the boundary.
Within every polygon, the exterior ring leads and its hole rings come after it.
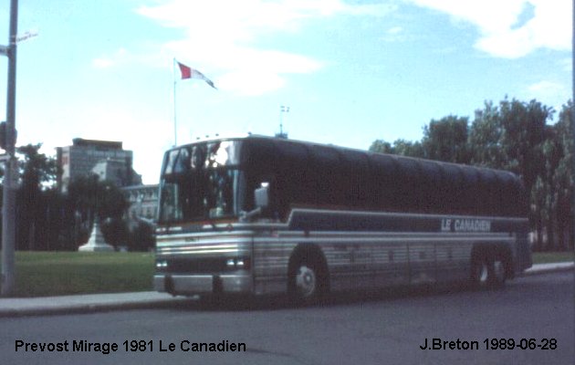
POLYGON ((552 108, 536 100, 527 103, 506 98, 497 107, 486 102, 484 110, 476 111, 469 137, 473 164, 521 176, 530 195, 531 226, 537 228, 539 239, 542 230, 546 231, 551 242, 555 194, 552 181, 559 163, 554 131, 547 125, 552 116, 552 108))

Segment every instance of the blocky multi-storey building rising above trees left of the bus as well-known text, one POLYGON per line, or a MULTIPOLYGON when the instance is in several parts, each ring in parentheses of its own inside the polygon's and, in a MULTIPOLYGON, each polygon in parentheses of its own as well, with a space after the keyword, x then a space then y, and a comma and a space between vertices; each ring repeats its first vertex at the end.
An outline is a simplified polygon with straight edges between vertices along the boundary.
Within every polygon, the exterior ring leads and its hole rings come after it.
POLYGON ((74 178, 92 174, 119 187, 141 184, 141 176, 132 169, 133 152, 124 150, 122 142, 81 138, 72 142, 71 146, 57 148, 60 191, 67 192, 74 178))

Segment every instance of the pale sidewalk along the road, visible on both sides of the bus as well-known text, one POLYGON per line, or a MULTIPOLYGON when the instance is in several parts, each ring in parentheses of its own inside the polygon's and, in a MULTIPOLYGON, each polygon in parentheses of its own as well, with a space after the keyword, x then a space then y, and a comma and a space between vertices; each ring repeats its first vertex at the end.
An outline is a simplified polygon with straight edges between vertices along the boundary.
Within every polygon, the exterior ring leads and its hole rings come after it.
MULTIPOLYGON (((538 264, 524 275, 573 270, 573 263, 538 264)), ((190 301, 157 292, 89 294, 62 297, 0 298, 0 318, 47 314, 88 313, 106 310, 173 307, 190 301)))

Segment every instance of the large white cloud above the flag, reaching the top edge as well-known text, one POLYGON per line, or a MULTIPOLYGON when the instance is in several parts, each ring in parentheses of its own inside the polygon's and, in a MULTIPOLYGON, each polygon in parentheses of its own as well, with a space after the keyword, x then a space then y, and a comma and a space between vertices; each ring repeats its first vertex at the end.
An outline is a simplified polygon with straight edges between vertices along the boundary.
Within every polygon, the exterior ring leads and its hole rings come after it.
POLYGON ((257 47, 262 36, 299 36, 308 22, 330 16, 385 16, 391 5, 349 5, 342 0, 167 0, 137 12, 162 26, 182 29, 183 39, 162 47, 209 74, 219 89, 258 95, 282 88, 290 74, 325 67, 314 57, 257 47))

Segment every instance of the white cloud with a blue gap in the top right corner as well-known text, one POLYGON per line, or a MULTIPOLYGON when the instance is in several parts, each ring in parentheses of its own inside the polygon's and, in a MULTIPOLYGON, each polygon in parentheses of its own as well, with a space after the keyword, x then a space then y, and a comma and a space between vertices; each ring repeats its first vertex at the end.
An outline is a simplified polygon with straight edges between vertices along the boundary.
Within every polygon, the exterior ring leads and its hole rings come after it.
POLYGON ((407 0, 471 23, 475 47, 494 57, 524 57, 539 48, 569 50, 572 3, 566 0, 407 0))

